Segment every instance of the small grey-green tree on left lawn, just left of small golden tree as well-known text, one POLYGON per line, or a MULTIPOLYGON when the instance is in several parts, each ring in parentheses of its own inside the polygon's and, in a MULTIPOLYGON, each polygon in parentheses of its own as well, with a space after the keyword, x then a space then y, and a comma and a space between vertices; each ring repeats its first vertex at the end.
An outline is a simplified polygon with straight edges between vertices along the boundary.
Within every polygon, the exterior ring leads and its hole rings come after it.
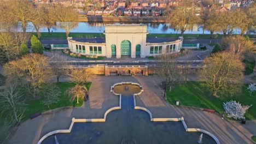
POLYGON ((43 105, 48 106, 50 108, 50 105, 56 104, 60 101, 60 95, 61 90, 59 87, 55 85, 51 85, 49 87, 46 87, 46 92, 44 93, 44 98, 41 101, 43 105))

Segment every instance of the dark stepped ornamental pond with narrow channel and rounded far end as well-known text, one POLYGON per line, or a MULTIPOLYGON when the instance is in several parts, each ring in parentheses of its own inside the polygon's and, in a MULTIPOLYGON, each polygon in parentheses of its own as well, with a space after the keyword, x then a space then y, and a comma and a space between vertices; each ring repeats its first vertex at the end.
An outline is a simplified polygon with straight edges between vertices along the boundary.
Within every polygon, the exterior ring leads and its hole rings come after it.
MULTIPOLYGON (((186 132, 181 122, 151 122, 147 112, 135 110, 131 90, 138 92, 136 87, 115 88, 125 93, 121 110, 110 112, 106 122, 74 123, 70 134, 56 134, 59 143, 197 143, 201 133, 186 132)), ((42 143, 55 144, 54 136, 42 143)), ((202 142, 216 143, 206 134, 202 142)))

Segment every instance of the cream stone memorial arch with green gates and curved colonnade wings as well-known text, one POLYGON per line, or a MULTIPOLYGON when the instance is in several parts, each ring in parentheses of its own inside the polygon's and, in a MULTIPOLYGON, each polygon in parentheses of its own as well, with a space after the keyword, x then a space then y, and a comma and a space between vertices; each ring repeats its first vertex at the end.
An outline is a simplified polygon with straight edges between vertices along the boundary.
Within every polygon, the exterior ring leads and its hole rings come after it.
POLYGON ((72 52, 81 55, 144 58, 162 53, 179 52, 183 42, 183 38, 179 37, 173 41, 148 43, 146 25, 106 25, 104 34, 106 35, 105 43, 84 43, 69 37, 68 47, 72 52))

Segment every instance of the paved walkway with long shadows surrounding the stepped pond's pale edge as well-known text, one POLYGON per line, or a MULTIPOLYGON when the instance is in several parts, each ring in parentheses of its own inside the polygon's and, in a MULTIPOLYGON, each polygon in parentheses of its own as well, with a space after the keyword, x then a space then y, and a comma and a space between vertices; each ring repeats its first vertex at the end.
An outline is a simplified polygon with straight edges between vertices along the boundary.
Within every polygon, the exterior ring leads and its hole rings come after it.
POLYGON ((68 129, 71 119, 102 118, 110 107, 118 105, 118 97, 109 92, 110 86, 121 81, 138 82, 144 86, 144 92, 136 97, 137 105, 147 107, 153 117, 184 117, 189 128, 202 128, 216 135, 220 143, 253 143, 250 139, 256 135, 256 122, 248 121, 242 125, 235 121, 226 121, 218 115, 202 112, 200 109, 172 106, 162 99, 156 76, 95 76, 91 79, 89 101, 82 107, 68 108, 44 114, 20 125, 9 143, 37 143, 40 137, 57 129, 68 129))

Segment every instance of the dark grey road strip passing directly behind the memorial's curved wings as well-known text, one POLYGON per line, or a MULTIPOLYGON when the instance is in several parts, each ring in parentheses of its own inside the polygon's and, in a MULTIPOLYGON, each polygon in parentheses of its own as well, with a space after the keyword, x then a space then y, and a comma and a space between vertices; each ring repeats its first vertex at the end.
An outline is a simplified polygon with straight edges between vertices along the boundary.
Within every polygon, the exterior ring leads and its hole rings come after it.
MULTIPOLYGON (((105 43, 105 38, 73 38, 74 40, 81 41, 81 42, 88 42, 88 43, 105 43)), ((165 41, 174 41, 173 38, 147 38, 147 43, 162 43, 165 41)), ((40 40, 43 45, 48 44, 68 44, 66 39, 60 38, 52 38, 52 39, 41 39, 40 40)), ((183 44, 210 44, 211 43, 218 43, 220 39, 184 39, 183 44)))

